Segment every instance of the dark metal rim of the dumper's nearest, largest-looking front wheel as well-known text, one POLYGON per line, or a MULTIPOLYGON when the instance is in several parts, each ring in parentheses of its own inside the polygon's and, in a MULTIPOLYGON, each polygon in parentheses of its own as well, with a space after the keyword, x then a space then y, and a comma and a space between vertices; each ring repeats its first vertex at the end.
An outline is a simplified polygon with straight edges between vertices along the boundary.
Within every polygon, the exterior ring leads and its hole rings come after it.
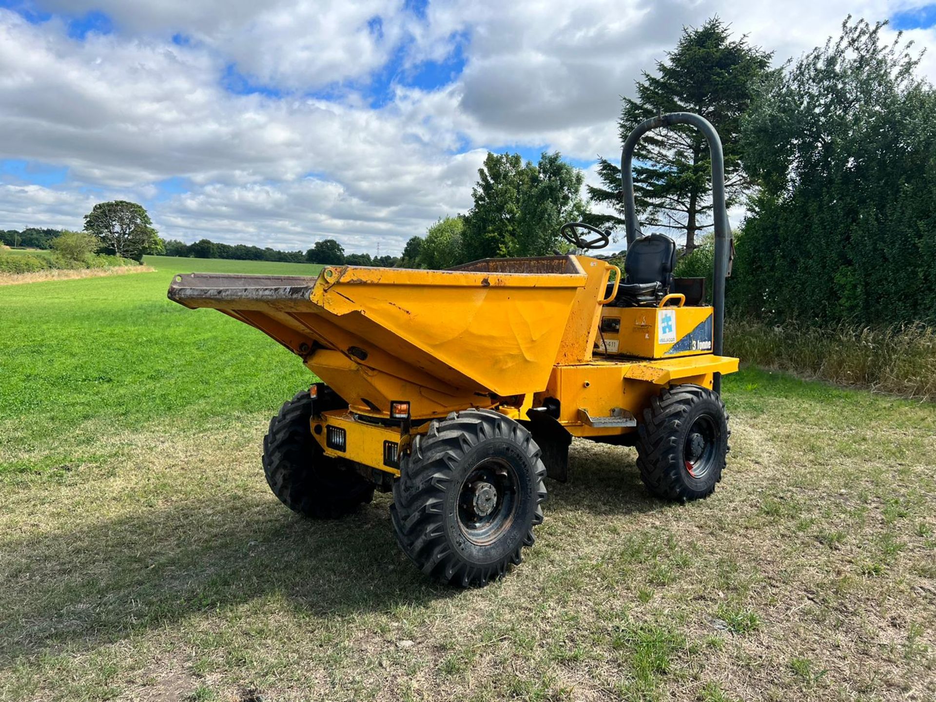
POLYGON ((487 546, 510 529, 517 516, 519 481, 507 461, 486 459, 459 490, 459 527, 469 541, 487 546))

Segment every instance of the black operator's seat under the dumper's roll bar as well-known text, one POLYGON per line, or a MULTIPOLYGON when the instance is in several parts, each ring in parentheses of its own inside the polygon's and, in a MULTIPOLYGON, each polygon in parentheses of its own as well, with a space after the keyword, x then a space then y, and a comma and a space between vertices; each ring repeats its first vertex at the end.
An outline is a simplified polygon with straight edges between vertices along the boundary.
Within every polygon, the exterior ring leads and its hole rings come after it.
POLYGON ((612 305, 655 307, 673 287, 674 268, 676 241, 663 234, 640 237, 627 249, 624 280, 612 305))

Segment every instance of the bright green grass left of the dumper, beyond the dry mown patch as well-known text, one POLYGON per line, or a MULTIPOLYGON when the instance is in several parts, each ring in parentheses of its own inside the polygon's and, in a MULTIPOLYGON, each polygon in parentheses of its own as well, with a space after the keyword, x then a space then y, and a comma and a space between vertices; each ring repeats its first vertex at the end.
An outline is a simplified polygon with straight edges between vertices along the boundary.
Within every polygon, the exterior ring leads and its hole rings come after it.
MULTIPOLYGON (((3 472, 101 458, 99 434, 155 420, 197 427, 260 408, 306 382, 295 357, 212 310, 166 298, 177 272, 230 271, 229 261, 147 256, 154 273, 15 285, 0 292, 3 472)), ((249 273, 317 266, 241 262, 249 273)))

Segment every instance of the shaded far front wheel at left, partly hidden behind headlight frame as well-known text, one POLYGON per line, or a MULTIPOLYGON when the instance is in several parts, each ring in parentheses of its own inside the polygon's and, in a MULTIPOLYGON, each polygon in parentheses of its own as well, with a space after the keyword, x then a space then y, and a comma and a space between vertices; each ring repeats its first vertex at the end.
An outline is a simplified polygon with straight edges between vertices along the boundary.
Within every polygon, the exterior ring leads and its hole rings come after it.
MULTIPOLYGON (((319 388, 316 412, 346 406, 327 388, 319 388)), ((270 420, 263 440, 263 472, 273 494, 289 509, 306 517, 334 519, 371 502, 373 484, 349 461, 325 455, 312 436, 312 411, 312 398, 304 390, 270 420)))

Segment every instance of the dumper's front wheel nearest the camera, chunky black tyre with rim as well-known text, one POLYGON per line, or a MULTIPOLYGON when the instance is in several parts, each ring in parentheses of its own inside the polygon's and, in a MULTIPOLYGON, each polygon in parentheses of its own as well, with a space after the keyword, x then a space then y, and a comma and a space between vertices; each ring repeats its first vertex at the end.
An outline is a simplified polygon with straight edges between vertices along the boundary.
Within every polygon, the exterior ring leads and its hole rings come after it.
POLYGON ((413 440, 393 484, 403 552, 427 575, 485 585, 519 565, 543 521, 546 467, 530 432, 490 410, 453 412, 413 440))

